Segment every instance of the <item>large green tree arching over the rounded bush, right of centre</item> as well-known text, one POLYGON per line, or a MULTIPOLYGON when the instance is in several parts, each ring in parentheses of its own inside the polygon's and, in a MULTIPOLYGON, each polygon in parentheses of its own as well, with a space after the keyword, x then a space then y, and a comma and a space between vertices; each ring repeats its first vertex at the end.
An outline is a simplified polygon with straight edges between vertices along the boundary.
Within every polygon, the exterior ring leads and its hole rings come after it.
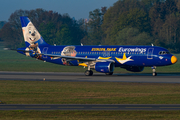
POLYGON ((140 0, 119 0, 104 15, 102 24, 103 44, 113 44, 118 32, 133 27, 140 32, 151 32, 148 8, 140 0))

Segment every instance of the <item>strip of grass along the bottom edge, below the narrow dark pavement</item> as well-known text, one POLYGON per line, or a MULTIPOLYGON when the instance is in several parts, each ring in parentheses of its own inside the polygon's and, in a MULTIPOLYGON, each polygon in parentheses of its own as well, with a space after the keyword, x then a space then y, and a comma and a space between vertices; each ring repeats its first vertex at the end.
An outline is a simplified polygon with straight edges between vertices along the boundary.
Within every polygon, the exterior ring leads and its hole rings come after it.
POLYGON ((179 120, 180 111, 0 111, 1 120, 179 120))

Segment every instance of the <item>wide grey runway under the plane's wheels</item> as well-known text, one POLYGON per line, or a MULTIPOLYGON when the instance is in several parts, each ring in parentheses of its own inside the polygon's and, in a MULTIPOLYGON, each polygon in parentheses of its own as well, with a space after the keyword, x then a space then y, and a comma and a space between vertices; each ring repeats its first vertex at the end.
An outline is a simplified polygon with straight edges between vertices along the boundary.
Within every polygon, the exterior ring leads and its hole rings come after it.
POLYGON ((106 76, 95 73, 85 76, 84 73, 52 73, 52 72, 0 72, 0 80, 26 81, 67 81, 67 82, 133 82, 133 83, 180 83, 180 74, 127 73, 106 76))

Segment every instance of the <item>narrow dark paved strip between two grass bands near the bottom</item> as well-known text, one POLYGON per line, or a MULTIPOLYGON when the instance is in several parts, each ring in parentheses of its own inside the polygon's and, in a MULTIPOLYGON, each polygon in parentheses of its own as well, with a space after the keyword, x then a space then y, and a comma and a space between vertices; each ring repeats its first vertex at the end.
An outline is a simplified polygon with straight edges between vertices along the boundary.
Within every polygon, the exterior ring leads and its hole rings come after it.
POLYGON ((129 105, 129 104, 52 104, 52 105, 0 105, 0 110, 180 110, 180 105, 129 105))

